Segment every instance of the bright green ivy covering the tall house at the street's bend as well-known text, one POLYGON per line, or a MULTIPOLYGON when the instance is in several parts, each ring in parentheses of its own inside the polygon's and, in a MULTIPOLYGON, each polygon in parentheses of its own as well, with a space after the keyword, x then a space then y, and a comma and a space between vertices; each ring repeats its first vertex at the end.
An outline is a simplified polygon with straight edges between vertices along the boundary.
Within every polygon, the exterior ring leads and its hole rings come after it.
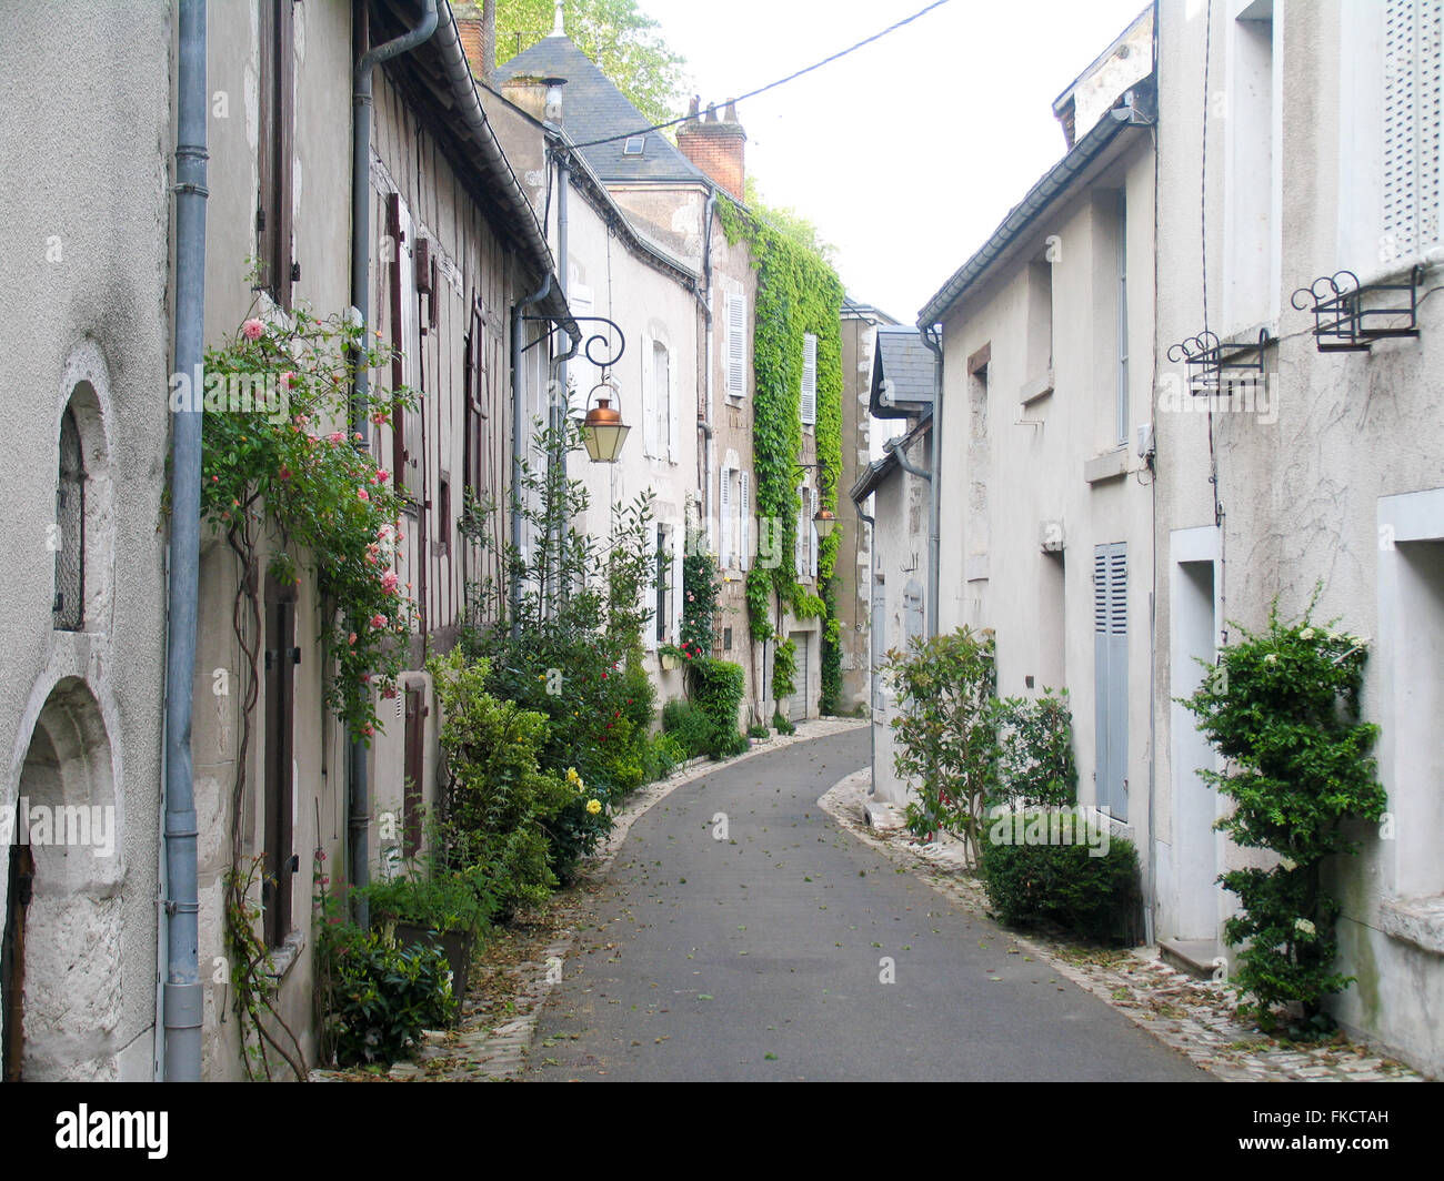
POLYGON ((791 562, 797 541, 797 463, 803 461, 801 380, 803 336, 817 338, 816 461, 822 507, 838 511, 842 476, 842 296, 838 273, 810 247, 761 221, 751 211, 722 199, 718 214, 729 245, 745 241, 757 269, 752 368, 752 468, 758 521, 780 526, 783 560, 774 567, 754 566, 747 576, 748 624, 754 641, 774 635, 771 602, 799 618, 823 619, 823 713, 836 712, 842 692, 838 595, 838 531, 817 547, 817 586, 812 595, 799 585, 791 562))

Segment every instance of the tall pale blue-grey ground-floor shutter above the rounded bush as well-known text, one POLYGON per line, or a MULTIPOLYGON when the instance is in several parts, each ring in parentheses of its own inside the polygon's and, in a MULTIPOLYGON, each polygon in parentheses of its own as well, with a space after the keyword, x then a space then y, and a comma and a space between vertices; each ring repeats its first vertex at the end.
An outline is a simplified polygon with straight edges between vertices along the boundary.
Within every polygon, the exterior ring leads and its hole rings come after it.
POLYGON ((1128 546, 1093 549, 1093 718, 1097 803, 1128 819, 1128 546))

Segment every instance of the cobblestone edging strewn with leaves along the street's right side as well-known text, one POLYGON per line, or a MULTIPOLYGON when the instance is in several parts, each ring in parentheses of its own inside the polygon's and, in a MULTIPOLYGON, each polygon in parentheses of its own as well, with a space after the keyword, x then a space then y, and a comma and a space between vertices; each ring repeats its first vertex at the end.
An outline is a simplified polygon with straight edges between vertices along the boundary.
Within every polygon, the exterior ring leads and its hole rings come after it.
MULTIPOLYGON (((894 865, 913 871, 972 914, 988 914, 982 884, 963 866, 962 845, 918 845, 905 830, 878 830, 864 819, 872 772, 839 780, 817 801, 829 816, 894 865)), ((1032 956, 1086 989, 1165 1045, 1230 1083, 1422 1083, 1421 1074, 1365 1045, 1278 1045, 1239 1021, 1238 992, 1226 983, 1199 980, 1164 963, 1157 947, 1121 954, 1073 947, 1041 936, 1004 930, 1009 954, 1032 956)))

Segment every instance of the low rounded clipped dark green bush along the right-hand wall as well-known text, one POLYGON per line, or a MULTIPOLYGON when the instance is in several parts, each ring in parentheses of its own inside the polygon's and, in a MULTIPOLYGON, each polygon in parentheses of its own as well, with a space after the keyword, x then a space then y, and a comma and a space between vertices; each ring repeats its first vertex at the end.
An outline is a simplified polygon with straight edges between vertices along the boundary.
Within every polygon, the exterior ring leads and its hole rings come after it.
MULTIPOLYGON (((1044 837, 1047 840, 1047 836, 1044 837)), ((1097 941, 1131 941, 1139 902, 1138 850, 1067 809, 1022 809, 991 823, 982 878, 998 918, 1012 927, 1054 924, 1097 941), (1063 823, 1071 822, 1071 830, 1063 823), (1071 843, 1031 840, 1044 826, 1071 843), (1106 853, 1093 856, 1105 847, 1106 853)))

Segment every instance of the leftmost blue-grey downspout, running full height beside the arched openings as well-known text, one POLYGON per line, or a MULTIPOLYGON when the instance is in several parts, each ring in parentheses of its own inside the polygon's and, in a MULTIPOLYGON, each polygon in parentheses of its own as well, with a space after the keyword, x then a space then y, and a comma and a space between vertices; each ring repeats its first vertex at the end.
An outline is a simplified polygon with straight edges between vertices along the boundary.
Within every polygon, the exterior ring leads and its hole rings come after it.
POLYGON ((205 0, 180 0, 176 77, 176 310, 175 370, 195 397, 175 414, 170 435, 170 556, 166 589, 165 847, 166 982, 165 1080, 201 1081, 204 993, 196 957, 195 784, 191 709, 195 681, 201 563, 201 427, 205 364, 205 0))

